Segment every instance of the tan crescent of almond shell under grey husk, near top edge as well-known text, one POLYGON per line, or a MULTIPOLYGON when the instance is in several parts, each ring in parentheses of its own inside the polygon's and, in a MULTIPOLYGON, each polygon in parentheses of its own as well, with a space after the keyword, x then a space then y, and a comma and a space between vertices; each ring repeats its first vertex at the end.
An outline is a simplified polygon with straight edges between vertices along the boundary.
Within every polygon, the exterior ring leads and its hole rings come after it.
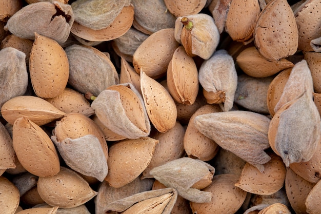
POLYGON ((115 20, 106 28, 94 30, 74 22, 70 32, 84 40, 105 42, 124 35, 130 29, 133 20, 134 8, 132 5, 129 5, 124 7, 115 20))

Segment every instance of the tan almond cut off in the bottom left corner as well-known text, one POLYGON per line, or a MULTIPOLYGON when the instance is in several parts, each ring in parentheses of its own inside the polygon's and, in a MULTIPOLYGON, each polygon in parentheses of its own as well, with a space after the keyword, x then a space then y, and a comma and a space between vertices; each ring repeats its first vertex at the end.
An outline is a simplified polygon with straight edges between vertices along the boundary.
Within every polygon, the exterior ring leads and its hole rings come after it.
POLYGON ((0 207, 2 213, 13 214, 20 201, 18 188, 7 178, 0 177, 0 207))

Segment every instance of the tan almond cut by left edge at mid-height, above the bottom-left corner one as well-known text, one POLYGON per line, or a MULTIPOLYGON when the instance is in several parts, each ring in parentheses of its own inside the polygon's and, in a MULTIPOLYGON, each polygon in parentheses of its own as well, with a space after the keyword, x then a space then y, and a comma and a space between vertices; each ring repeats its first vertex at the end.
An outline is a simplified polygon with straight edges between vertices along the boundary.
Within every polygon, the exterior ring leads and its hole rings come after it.
MULTIPOLYGON (((15 168, 12 138, 6 127, 0 123, 0 169, 15 168)), ((1 174, 0 174, 1 176, 1 174)))

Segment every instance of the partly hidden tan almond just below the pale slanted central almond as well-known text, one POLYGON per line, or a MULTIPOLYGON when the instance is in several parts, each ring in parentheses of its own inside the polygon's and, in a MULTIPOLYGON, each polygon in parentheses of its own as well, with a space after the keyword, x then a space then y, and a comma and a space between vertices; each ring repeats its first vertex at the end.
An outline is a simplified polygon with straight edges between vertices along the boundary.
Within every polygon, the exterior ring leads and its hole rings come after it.
POLYGON ((143 178, 153 178, 149 173, 154 167, 163 165, 169 161, 181 158, 184 154, 183 138, 185 129, 180 123, 176 122, 175 126, 165 133, 156 132, 150 137, 158 140, 153 157, 143 171, 143 178))

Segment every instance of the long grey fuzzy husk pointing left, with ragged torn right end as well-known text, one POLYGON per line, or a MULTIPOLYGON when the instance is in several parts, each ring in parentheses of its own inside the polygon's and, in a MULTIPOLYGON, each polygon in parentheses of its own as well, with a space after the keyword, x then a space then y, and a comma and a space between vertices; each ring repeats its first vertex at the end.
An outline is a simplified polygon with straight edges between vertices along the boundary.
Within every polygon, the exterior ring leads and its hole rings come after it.
POLYGON ((264 171, 263 164, 271 159, 264 151, 270 147, 268 129, 271 120, 266 116, 235 110, 202 114, 194 120, 195 127, 220 147, 264 171))

